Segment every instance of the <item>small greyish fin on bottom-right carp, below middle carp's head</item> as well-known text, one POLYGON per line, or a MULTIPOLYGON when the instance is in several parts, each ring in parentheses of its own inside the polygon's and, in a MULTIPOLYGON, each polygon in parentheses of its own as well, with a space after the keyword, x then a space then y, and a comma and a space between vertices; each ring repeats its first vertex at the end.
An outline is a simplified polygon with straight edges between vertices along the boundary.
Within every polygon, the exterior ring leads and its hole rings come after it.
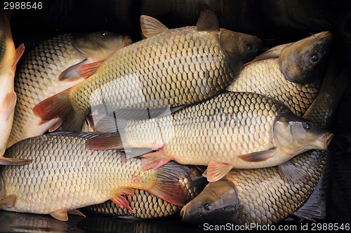
POLYGON ((296 167, 296 164, 291 160, 284 162, 278 166, 279 174, 286 183, 302 183, 306 182, 310 176, 307 171, 300 167, 296 167))

